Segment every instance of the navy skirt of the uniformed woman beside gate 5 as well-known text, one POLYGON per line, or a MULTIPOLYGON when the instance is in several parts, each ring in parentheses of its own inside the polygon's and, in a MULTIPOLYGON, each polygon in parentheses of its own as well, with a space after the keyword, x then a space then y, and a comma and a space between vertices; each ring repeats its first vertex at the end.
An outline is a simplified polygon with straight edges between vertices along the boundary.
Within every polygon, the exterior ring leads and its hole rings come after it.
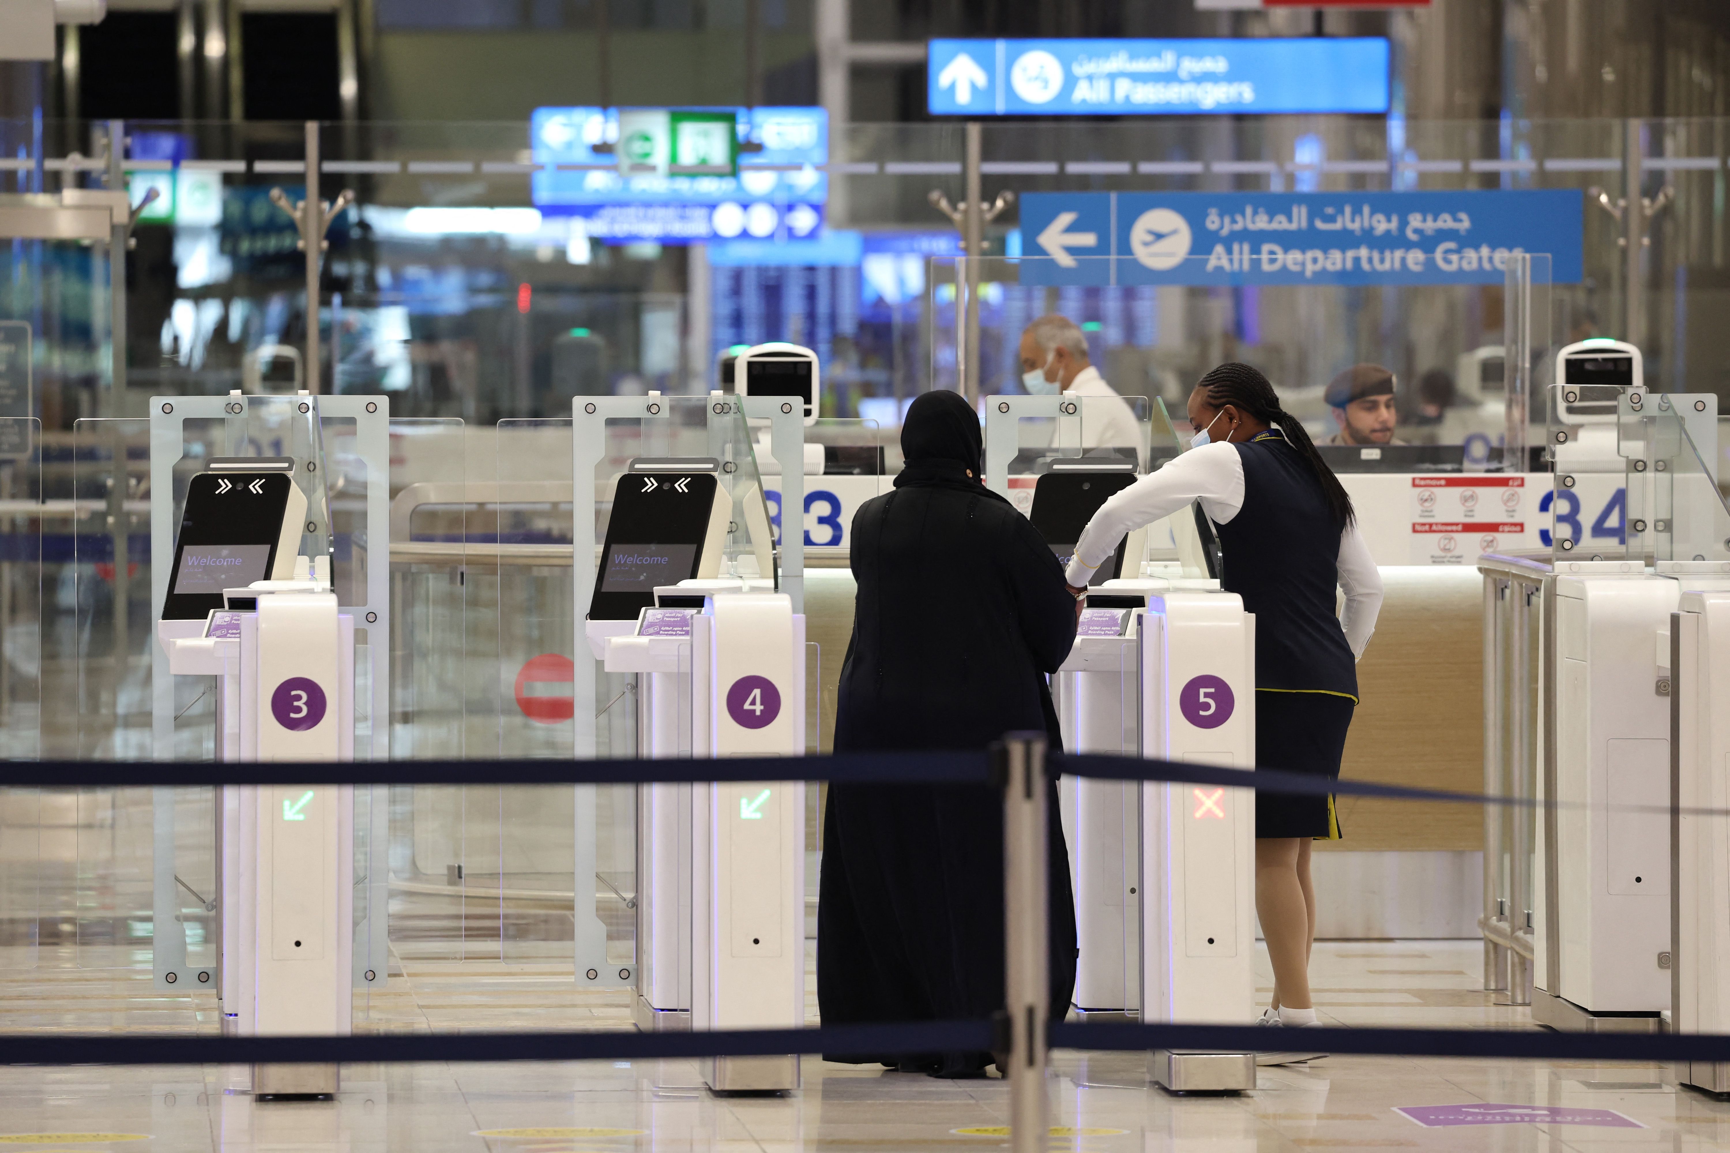
MULTIPOLYGON (((1256 690, 1256 768, 1339 780, 1356 702, 1339 693, 1256 690)), ((1256 837, 1339 840, 1334 795, 1256 792, 1256 837)))

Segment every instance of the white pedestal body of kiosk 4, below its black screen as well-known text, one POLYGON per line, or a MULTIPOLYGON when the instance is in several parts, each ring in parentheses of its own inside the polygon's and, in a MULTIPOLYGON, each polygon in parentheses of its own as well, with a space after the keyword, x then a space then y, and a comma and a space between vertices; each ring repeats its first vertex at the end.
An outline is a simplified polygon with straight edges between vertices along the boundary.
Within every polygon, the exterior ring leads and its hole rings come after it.
MULTIPOLYGON (((702 608, 645 608, 633 634, 604 640, 607 672, 647 683, 644 752, 801 755, 804 617, 782 593, 697 595, 702 608)), ((640 797, 638 1027, 803 1027, 804 783, 645 785, 640 797)), ((701 1065, 714 1091, 799 1087, 791 1054, 701 1065)))

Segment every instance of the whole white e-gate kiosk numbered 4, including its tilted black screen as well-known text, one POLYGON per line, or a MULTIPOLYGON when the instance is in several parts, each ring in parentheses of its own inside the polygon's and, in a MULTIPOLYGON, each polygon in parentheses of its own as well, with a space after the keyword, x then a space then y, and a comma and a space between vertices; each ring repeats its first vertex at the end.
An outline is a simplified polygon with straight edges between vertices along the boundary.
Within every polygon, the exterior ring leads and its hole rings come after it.
MULTIPOLYGON (((723 456, 637 458, 614 479, 588 647, 635 676, 640 755, 801 755, 804 615, 775 588, 744 401, 699 399, 730 427, 723 456)), ((794 408, 772 424, 798 429, 794 408)), ((637 1025, 803 1025, 804 783, 644 785, 637 812, 637 1025)), ((792 1054, 699 1068, 716 1092, 799 1087, 792 1054)))

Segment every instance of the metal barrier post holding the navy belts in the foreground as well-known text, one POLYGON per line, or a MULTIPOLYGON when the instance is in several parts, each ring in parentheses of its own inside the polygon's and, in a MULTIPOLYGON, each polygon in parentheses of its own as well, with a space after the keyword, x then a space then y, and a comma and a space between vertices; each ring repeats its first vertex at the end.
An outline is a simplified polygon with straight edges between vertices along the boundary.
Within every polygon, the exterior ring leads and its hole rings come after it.
POLYGON ((1003 738, 1003 1003, 1009 1008, 1009 1148, 1047 1153, 1050 1011, 1045 735, 1003 738))

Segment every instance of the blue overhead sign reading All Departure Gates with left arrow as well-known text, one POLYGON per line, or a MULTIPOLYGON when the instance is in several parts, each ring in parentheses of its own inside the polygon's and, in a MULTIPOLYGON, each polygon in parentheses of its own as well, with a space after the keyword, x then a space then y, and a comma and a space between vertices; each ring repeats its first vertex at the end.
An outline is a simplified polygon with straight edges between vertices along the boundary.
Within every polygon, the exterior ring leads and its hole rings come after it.
POLYGON ((1583 202, 1519 192, 1029 192, 1021 283, 1578 283, 1583 202))

